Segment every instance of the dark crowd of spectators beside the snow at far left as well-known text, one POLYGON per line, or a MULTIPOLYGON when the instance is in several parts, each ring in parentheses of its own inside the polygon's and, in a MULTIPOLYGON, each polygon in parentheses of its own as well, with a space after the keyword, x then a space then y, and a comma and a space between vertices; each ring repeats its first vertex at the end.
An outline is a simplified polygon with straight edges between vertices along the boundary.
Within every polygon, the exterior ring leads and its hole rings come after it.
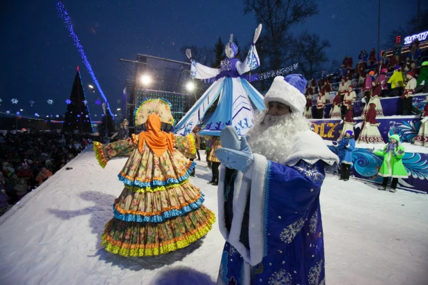
POLYGON ((0 216, 88 144, 91 136, 83 134, 0 132, 0 216))

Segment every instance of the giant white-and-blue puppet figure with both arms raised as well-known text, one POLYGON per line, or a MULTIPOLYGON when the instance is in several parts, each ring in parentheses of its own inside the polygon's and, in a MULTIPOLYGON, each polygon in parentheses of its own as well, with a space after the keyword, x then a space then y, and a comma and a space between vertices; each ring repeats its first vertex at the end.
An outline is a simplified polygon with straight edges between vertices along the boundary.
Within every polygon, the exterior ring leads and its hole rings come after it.
POLYGON ((192 62, 190 77, 208 80, 213 84, 181 118, 173 130, 174 134, 181 136, 190 134, 190 131, 204 118, 206 111, 219 96, 220 99, 213 116, 199 131, 199 135, 220 136, 220 131, 224 127, 233 126, 238 134, 244 136, 253 127, 254 109, 258 111, 265 109, 263 96, 242 75, 260 66, 255 44, 261 30, 262 25, 260 24, 256 28, 253 44, 244 62, 235 58, 238 53, 238 46, 233 42, 232 35, 225 48, 228 58, 222 60, 220 68, 211 68, 199 64, 195 59, 192 59, 190 50, 186 50, 186 55, 192 62))

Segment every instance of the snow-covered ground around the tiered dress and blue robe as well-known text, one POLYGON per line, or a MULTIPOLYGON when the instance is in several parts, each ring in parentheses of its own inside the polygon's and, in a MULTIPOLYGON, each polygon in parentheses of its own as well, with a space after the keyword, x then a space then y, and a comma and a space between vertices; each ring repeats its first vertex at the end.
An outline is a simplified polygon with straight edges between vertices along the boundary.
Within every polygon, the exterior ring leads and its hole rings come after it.
MULTIPOLYGON (((159 257, 100 246, 125 159, 102 169, 84 151, 67 165, 73 169, 63 167, 0 217, 0 284, 214 284, 224 244, 217 223, 204 239, 159 257)), ((198 163, 191 179, 217 212, 211 171, 198 163)), ((330 174, 321 193, 327 284, 428 284, 428 195, 330 174)))

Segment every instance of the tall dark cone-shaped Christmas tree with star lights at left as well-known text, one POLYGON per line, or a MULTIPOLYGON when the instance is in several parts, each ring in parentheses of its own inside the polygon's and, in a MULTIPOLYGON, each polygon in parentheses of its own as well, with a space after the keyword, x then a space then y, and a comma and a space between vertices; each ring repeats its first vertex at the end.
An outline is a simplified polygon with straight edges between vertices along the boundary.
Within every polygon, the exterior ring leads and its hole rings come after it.
POLYGON ((62 130, 67 132, 92 133, 91 116, 89 115, 87 100, 84 95, 79 66, 78 71, 75 73, 70 99, 66 100, 66 103, 68 106, 62 130))

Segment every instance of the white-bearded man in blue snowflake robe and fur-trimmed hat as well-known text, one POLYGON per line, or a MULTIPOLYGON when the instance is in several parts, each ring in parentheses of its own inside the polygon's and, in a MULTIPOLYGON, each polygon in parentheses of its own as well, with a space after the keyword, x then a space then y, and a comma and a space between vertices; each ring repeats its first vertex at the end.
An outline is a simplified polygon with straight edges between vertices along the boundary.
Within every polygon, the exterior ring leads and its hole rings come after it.
POLYGON ((325 284, 319 194, 339 163, 303 117, 306 80, 278 76, 247 138, 220 138, 218 221, 226 244, 217 284, 325 284))

